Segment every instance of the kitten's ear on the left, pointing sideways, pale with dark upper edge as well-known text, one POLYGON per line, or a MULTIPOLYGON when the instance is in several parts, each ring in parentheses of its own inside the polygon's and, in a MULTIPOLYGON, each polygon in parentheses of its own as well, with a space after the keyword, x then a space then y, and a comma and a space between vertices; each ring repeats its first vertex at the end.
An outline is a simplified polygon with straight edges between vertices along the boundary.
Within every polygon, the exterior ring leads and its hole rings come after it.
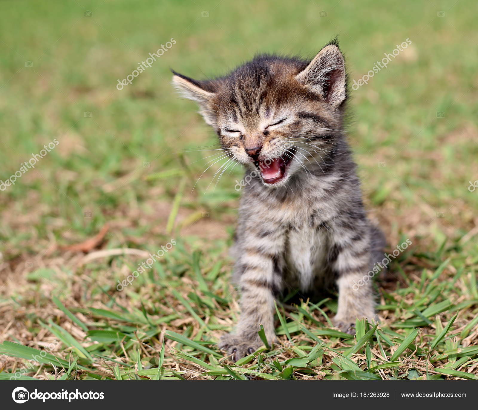
MULTIPOLYGON (((173 71, 173 70, 171 70, 173 71)), ((211 87, 202 84, 192 78, 183 76, 173 71, 173 86, 181 93, 183 97, 196 101, 199 105, 199 113, 203 116, 206 124, 213 125, 213 111, 209 108, 209 103, 215 97, 215 93, 210 91, 211 87)))

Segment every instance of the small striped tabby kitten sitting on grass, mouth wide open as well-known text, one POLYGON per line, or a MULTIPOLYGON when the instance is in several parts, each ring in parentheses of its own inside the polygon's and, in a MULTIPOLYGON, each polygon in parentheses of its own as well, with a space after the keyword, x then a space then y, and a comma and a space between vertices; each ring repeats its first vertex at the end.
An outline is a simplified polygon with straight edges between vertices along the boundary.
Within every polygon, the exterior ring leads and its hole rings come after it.
POLYGON ((246 166, 233 279, 241 314, 219 347, 234 360, 274 341, 274 298, 337 284, 334 324, 352 333, 375 318, 370 281, 383 235, 367 219, 343 131, 347 83, 337 41, 312 61, 259 55, 227 76, 197 81, 174 72, 228 157, 246 166), (260 176, 259 176, 260 175, 260 176), (249 178, 247 178, 249 176, 249 178), (256 177, 254 177, 256 176, 256 177))

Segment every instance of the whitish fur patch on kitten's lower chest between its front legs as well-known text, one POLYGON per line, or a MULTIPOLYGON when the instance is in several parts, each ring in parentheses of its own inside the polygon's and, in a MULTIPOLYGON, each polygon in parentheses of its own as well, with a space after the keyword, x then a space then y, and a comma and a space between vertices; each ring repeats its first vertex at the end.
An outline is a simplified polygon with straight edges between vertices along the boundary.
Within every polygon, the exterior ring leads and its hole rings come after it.
POLYGON ((325 272, 328 237, 326 230, 308 225, 292 227, 285 244, 285 262, 290 280, 302 291, 311 290, 325 272))

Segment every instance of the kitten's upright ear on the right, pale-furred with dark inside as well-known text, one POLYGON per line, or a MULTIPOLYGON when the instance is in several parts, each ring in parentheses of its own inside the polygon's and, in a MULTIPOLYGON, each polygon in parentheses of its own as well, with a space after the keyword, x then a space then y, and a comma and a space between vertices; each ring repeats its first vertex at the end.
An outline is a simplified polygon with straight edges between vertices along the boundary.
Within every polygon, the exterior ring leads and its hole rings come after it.
POLYGON ((295 78, 334 107, 347 98, 345 61, 336 43, 320 50, 295 78))

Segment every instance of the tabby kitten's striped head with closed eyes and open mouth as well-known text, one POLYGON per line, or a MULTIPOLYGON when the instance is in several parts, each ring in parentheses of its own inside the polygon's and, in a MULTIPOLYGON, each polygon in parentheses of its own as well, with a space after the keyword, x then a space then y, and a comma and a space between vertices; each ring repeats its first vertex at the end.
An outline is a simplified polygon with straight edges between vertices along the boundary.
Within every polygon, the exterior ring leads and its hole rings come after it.
POLYGON ((213 80, 174 72, 173 84, 199 104, 228 155, 255 166, 269 187, 323 169, 340 134, 347 99, 337 42, 312 61, 260 55, 213 80))

